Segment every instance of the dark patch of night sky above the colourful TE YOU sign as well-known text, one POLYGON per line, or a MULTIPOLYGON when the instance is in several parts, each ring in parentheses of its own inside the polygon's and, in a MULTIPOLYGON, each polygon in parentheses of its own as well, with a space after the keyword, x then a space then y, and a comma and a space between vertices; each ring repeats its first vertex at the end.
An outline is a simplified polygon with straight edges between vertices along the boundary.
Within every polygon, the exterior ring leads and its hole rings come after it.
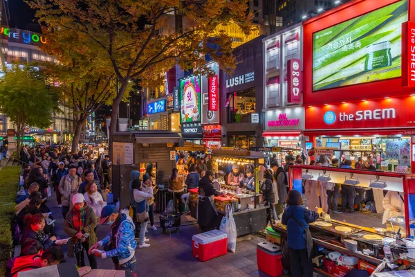
MULTIPOLYGON (((35 10, 32 10, 28 4, 24 3, 24 0, 8 0, 3 3, 6 3, 10 10, 10 28, 40 32, 39 24, 33 21, 35 19, 35 10)), ((1 22, 1 25, 6 25, 6 22, 1 22)))

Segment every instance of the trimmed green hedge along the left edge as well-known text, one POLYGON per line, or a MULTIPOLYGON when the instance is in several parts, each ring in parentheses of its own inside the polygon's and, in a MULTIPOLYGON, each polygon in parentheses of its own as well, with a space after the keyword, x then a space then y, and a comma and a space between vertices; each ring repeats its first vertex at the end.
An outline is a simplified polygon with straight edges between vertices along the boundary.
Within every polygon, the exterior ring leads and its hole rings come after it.
POLYGON ((5 275, 6 262, 12 258, 11 223, 15 213, 19 172, 19 166, 6 166, 0 171, 0 276, 5 275))

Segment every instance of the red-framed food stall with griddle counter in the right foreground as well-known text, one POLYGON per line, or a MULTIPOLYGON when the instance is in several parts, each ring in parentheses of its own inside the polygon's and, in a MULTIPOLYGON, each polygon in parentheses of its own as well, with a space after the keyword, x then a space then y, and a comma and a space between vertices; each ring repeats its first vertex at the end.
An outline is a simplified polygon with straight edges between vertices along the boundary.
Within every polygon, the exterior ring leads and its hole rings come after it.
MULTIPOLYGON (((342 190, 353 187, 356 194, 370 190, 373 195, 365 199, 362 211, 330 213, 310 224, 314 244, 318 246, 315 271, 322 276, 344 276, 353 268, 369 267, 371 273, 384 257, 391 262, 405 260, 405 265, 414 264, 412 252, 415 249, 407 248, 408 243, 413 242, 405 240, 415 231, 411 229, 415 222, 414 178, 415 175, 396 172, 290 166, 290 188, 302 193, 304 205, 312 211, 320 201, 327 213, 326 195, 313 192, 319 190, 319 186, 325 190, 328 183, 339 184, 342 190), (389 204, 396 207, 395 213, 390 212, 389 204)), ((286 236, 286 226, 281 223, 274 224, 273 229, 282 237, 286 236)))

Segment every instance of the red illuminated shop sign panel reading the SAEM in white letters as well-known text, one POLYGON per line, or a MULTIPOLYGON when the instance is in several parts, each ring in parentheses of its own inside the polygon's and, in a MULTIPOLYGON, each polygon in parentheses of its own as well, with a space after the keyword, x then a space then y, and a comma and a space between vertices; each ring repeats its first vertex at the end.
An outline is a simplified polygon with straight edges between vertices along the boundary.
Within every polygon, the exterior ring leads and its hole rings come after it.
POLYGON ((306 130, 415 128, 414 107, 415 96, 306 107, 306 130))

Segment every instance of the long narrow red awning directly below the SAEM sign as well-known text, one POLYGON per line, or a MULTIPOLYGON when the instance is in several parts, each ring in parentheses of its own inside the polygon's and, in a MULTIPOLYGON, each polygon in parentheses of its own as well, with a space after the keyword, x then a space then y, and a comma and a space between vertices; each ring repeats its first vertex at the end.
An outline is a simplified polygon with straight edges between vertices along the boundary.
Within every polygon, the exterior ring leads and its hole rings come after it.
POLYGON ((304 136, 411 136, 415 128, 310 130, 304 136))

